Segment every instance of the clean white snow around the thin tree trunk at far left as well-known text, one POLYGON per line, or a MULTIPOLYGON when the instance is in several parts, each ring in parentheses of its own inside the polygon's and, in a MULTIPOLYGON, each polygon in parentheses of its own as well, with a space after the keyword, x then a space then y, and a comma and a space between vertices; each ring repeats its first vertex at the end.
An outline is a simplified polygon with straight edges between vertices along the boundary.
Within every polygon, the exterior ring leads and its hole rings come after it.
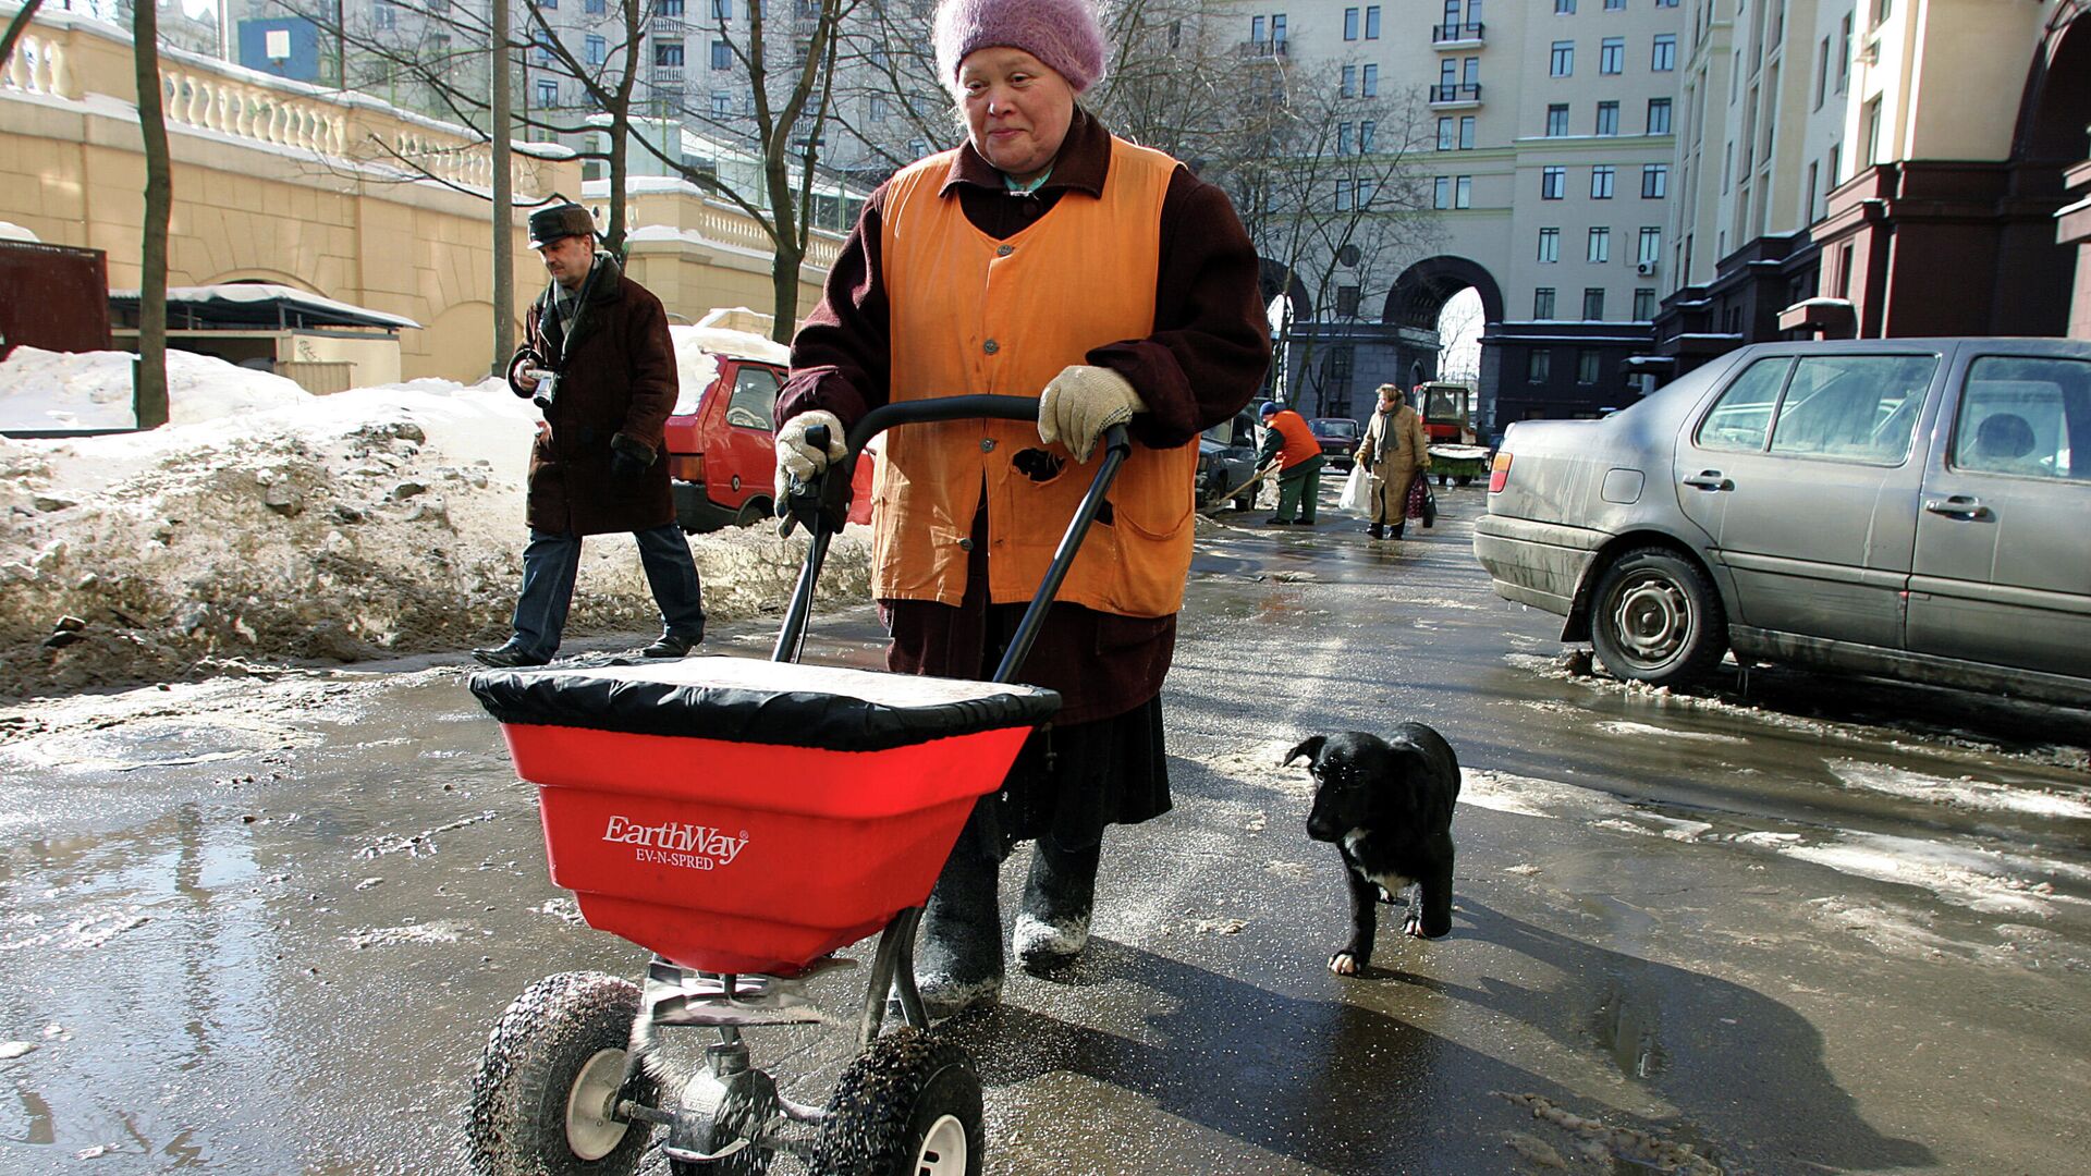
MULTIPOLYGON (((130 352, 44 352, 15 347, 0 364, 0 429, 130 429, 130 352)), ((236 368, 213 356, 167 352, 167 419, 197 425, 240 412, 312 400, 270 372, 236 368)))

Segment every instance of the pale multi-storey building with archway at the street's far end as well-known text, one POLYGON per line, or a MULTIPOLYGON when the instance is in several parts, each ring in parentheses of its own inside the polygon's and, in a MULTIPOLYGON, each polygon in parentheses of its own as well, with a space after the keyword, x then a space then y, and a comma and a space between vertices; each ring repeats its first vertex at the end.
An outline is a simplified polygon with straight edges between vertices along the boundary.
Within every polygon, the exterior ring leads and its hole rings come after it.
MULTIPOLYGON (((1428 377, 1420 339, 1462 289, 1480 293, 1485 425, 1595 414, 1637 395, 1671 251, 1679 0, 1292 0, 1221 4, 1294 67, 1336 63, 1359 88, 1420 92, 1418 157, 1434 245, 1363 291, 1380 339, 1355 387, 1428 377), (1368 82, 1370 80, 1370 82, 1368 82)), ((1432 356, 1434 358, 1434 356, 1432 356)), ((1363 404, 1357 393, 1351 404, 1363 404)))

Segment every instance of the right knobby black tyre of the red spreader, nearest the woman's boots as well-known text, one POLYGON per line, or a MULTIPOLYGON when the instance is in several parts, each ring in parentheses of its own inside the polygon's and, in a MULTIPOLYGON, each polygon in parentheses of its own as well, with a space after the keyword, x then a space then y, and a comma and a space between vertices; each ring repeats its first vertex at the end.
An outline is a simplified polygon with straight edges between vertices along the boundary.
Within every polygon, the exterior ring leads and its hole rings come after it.
POLYGON ((849 1063, 813 1143, 822 1176, 979 1176, 981 1076, 922 1030, 878 1038, 849 1063))

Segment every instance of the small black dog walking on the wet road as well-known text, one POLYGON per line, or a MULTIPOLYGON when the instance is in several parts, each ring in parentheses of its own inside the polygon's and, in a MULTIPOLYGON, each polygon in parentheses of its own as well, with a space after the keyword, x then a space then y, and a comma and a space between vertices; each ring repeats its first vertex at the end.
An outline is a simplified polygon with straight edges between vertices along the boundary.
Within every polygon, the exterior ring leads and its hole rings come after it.
POLYGON ((1328 971, 1357 975, 1372 963, 1376 904, 1401 891, 1403 931, 1437 940, 1451 931, 1451 808, 1460 799, 1460 760, 1445 737, 1420 722, 1391 741, 1361 730, 1315 734, 1286 753, 1307 755, 1315 778, 1307 835, 1334 841, 1351 885, 1351 942, 1328 971), (1422 891, 1418 898, 1414 891, 1422 891))

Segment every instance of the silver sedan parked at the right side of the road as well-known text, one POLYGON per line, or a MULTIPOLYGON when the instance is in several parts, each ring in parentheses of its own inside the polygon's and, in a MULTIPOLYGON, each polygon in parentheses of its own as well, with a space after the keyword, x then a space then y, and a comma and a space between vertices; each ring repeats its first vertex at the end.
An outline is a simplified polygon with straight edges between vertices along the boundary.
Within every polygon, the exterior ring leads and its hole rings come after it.
POLYGON ((1474 555, 1621 678, 1733 651, 2091 703, 2091 345, 1765 343, 1512 425, 1474 555))

